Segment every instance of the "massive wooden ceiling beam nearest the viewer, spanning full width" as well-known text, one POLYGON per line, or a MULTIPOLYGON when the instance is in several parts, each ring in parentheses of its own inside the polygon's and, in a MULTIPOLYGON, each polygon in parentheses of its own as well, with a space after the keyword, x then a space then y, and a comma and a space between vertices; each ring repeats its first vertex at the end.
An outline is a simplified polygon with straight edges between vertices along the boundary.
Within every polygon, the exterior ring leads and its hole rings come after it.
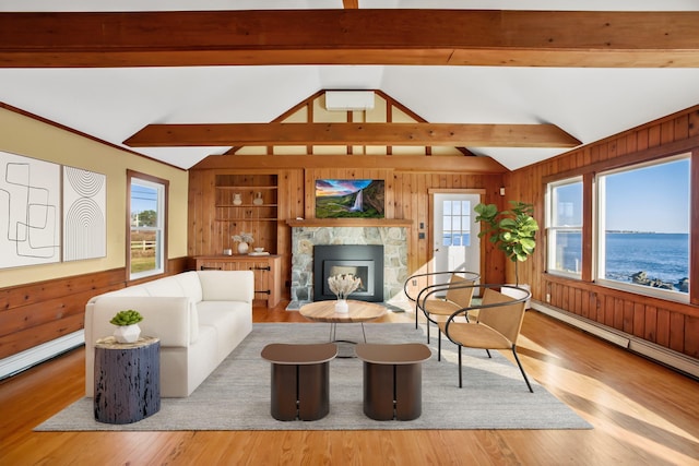
POLYGON ((0 67, 699 67, 699 12, 0 13, 0 67))

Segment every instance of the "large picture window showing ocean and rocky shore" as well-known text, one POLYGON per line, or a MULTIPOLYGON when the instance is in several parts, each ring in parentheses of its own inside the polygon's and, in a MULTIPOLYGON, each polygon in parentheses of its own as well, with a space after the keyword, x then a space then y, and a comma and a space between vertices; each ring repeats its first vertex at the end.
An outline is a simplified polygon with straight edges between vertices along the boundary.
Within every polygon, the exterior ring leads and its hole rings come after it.
POLYGON ((600 283, 688 299, 689 163, 684 155, 597 176, 600 283))

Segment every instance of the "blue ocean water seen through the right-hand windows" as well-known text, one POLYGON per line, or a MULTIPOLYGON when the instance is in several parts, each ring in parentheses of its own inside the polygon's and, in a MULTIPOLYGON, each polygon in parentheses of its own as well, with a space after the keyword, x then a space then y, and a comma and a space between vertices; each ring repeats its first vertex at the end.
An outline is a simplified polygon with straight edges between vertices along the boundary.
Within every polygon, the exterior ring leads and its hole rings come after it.
MULTIPOLYGON (((564 240, 562 237, 559 238, 564 240)), ((580 234, 565 234, 564 267, 576 270, 580 261, 580 234), (578 262, 579 263, 579 262, 578 262)), ((648 278, 677 284, 689 277, 689 235, 606 234, 605 278, 631 282, 631 275, 645 272, 648 278)))

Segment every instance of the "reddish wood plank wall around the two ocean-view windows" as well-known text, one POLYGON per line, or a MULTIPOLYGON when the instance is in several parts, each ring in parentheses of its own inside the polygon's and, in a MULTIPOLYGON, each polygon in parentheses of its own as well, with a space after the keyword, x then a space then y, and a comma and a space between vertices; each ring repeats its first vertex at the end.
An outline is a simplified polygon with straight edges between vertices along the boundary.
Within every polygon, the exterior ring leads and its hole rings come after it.
MULTIPOLYGON (((688 152, 692 153, 691 304, 599 286, 589 267, 583 268, 582 280, 548 275, 543 234, 535 255, 520 267, 520 279, 532 285, 533 298, 545 301, 548 294, 554 307, 699 358, 699 106, 508 174, 505 184, 508 199, 535 205, 543 227, 546 182, 577 175, 592 177, 600 170, 688 152)), ((587 248, 591 250, 590 244, 587 248)))

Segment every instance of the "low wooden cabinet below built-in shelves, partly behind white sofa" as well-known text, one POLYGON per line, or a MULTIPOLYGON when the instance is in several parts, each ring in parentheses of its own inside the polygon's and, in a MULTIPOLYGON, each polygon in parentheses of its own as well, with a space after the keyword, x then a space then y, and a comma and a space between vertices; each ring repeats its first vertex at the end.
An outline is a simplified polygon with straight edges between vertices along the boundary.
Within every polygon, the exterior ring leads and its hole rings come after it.
POLYGON ((197 270, 252 271, 256 304, 273 308, 282 299, 282 258, 280 255, 200 255, 197 270))

